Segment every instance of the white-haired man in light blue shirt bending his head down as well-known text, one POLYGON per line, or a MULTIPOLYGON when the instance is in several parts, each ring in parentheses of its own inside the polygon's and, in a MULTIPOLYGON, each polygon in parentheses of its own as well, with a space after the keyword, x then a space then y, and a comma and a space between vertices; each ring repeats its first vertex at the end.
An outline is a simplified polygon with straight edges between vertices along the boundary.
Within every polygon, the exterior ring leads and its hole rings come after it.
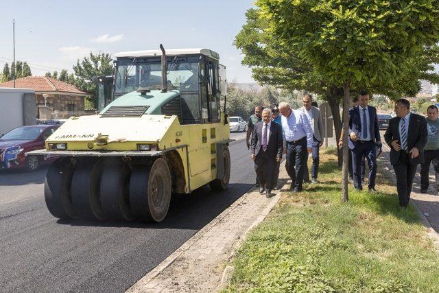
POLYGON ((288 103, 281 102, 279 111, 282 114, 284 152, 287 153, 285 167, 292 180, 290 189, 296 193, 302 191, 305 161, 313 150, 313 129, 307 115, 301 110, 293 110, 288 103))

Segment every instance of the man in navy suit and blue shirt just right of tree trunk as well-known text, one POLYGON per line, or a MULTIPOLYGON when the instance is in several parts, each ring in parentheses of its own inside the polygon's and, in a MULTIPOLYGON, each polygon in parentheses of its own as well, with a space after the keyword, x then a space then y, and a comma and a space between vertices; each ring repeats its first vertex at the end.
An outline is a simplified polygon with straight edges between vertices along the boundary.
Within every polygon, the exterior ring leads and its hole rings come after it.
POLYGON ((381 142, 377 117, 377 108, 368 106, 369 94, 360 91, 358 106, 349 109, 349 148, 352 150, 354 187, 362 190, 361 159, 368 160, 369 191, 375 192, 377 176, 377 150, 375 145, 381 142))

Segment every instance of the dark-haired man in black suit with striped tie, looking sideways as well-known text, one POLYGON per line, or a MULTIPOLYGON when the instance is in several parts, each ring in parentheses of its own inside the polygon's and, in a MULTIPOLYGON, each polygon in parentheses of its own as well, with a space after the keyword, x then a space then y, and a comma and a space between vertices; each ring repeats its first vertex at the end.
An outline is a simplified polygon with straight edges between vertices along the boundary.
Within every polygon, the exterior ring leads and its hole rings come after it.
POLYGON ((423 150, 427 143, 427 121, 424 117, 410 113, 410 102, 399 99, 395 103, 396 117, 390 119, 384 139, 390 146, 390 163, 396 174, 399 207, 409 204, 410 192, 416 166, 423 161, 423 150))

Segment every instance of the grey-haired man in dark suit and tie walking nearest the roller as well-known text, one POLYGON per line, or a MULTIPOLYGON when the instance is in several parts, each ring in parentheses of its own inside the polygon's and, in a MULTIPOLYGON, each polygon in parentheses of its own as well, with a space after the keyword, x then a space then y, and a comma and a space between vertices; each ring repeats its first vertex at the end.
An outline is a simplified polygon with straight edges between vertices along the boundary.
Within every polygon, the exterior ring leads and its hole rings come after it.
POLYGON ((252 132, 251 154, 256 169, 257 179, 261 185, 259 193, 267 189, 267 198, 270 198, 274 185, 274 174, 278 162, 282 159, 283 136, 280 125, 272 122, 272 110, 262 111, 262 121, 257 122, 252 132))

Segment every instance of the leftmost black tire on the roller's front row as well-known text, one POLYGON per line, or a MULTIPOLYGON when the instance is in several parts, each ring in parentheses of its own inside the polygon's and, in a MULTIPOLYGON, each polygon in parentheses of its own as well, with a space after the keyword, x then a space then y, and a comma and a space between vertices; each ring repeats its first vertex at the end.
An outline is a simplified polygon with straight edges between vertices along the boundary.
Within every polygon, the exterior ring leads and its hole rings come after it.
POLYGON ((69 158, 58 159, 47 170, 44 183, 44 198, 47 209, 54 217, 62 220, 78 218, 71 202, 73 169, 69 158))

